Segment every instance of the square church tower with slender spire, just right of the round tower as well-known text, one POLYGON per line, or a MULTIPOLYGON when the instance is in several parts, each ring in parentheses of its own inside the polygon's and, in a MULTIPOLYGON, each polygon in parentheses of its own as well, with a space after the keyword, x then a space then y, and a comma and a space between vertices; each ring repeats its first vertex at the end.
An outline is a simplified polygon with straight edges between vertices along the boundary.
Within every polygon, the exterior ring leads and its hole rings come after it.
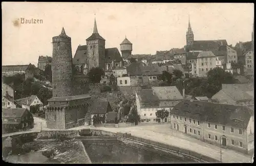
POLYGON ((105 39, 102 38, 97 29, 96 18, 94 19, 93 34, 86 39, 87 42, 87 65, 89 71, 100 67, 104 70, 105 39))

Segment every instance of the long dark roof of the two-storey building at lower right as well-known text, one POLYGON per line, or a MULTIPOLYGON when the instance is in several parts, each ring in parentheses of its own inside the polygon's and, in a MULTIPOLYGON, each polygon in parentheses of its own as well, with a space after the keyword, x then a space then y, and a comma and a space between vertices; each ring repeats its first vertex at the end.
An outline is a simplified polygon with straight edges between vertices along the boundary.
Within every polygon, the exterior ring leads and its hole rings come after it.
POLYGON ((173 114, 230 126, 246 128, 253 110, 246 106, 183 100, 174 106, 173 114))

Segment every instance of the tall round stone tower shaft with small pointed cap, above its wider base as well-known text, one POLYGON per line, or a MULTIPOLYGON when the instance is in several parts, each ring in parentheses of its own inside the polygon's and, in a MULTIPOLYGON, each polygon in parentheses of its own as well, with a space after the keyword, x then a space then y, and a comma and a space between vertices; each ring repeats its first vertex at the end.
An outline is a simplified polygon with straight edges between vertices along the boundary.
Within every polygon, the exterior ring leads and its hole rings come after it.
POLYGON ((72 96, 71 38, 62 27, 61 34, 52 38, 52 93, 53 97, 72 96))

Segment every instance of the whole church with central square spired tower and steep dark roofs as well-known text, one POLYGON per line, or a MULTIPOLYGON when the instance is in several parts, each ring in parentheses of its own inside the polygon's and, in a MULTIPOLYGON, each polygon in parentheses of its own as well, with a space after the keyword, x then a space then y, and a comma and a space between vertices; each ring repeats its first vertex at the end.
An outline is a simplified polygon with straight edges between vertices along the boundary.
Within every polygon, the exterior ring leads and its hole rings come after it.
POLYGON ((92 68, 100 67, 104 71, 123 67, 123 59, 116 47, 105 48, 105 39, 98 33, 96 19, 93 34, 86 39, 87 45, 79 45, 73 58, 76 70, 87 74, 92 68))

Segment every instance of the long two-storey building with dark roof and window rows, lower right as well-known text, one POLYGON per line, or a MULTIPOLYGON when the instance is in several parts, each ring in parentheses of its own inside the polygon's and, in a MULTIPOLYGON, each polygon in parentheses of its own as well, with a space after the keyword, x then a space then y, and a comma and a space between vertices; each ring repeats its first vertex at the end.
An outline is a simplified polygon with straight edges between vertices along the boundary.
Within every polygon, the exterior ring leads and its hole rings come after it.
POLYGON ((247 106, 183 100, 171 113, 174 130, 224 148, 254 149, 254 113, 247 106))

